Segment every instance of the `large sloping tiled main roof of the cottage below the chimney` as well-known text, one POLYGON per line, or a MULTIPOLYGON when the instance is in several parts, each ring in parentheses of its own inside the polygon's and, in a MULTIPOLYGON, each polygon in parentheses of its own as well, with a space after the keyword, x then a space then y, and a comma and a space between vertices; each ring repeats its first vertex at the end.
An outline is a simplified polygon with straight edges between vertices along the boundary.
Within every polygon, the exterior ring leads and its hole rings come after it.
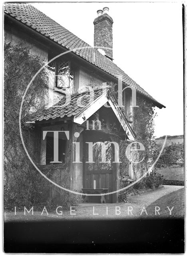
POLYGON ((157 107, 165 107, 145 92, 145 90, 127 76, 123 70, 121 70, 107 57, 103 56, 97 49, 91 47, 69 30, 49 18, 46 14, 34 8, 34 6, 23 3, 6 3, 4 4, 4 12, 19 22, 22 22, 22 24, 42 34, 46 38, 49 38, 60 46, 63 46, 67 50, 72 50, 76 55, 87 60, 113 77, 119 78, 119 76, 121 76, 123 82, 127 84, 127 86, 131 86, 147 98, 151 99, 157 107), (75 48, 82 49, 74 50, 75 48))

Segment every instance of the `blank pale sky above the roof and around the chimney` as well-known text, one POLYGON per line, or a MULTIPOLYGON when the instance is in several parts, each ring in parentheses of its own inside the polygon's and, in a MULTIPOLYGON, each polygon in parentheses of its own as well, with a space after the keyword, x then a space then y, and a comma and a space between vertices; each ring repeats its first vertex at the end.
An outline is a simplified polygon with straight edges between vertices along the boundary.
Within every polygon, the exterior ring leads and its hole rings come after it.
POLYGON ((155 136, 183 134, 183 35, 180 3, 32 3, 94 46, 97 10, 113 18, 113 62, 166 108, 155 108, 155 136))

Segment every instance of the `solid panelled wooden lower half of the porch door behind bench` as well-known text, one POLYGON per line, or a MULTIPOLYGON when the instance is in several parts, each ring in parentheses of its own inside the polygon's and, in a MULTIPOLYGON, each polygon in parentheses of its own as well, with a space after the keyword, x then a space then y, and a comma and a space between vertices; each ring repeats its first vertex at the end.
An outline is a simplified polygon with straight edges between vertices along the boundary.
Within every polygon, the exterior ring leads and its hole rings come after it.
MULTIPOLYGON (((112 192, 112 170, 86 170, 85 188, 108 188, 112 192)), ((106 203, 112 203, 112 194, 105 196, 106 203)), ((92 196, 92 202, 97 202, 99 198, 92 196)))

